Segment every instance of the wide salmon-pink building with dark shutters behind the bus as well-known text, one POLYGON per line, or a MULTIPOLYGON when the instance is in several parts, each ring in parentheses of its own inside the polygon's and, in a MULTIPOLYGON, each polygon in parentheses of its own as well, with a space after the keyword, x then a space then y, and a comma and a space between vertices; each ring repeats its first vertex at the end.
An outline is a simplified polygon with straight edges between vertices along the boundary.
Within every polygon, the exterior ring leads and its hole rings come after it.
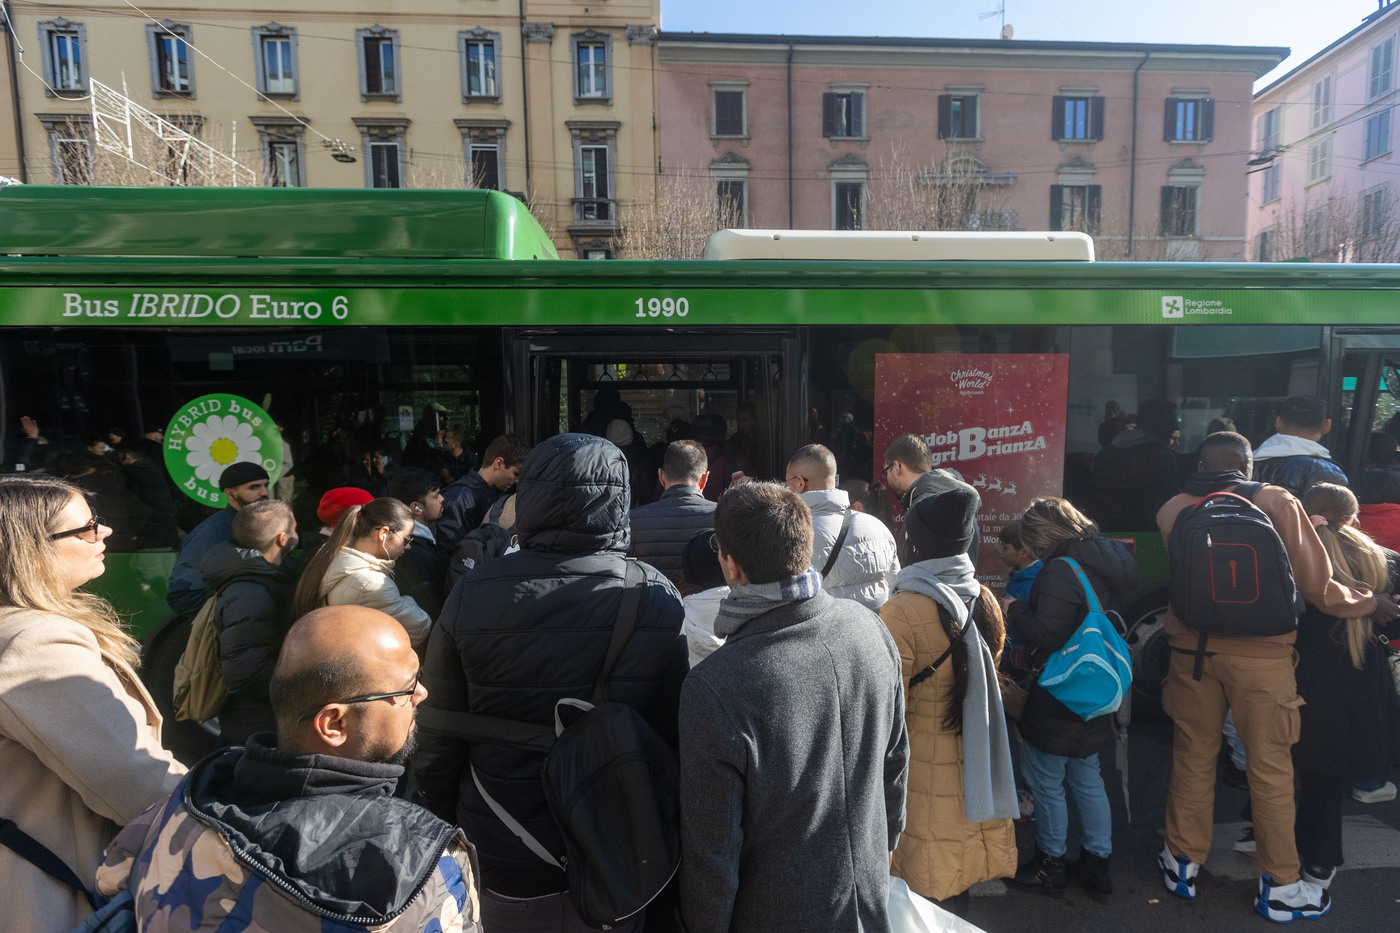
POLYGON ((1105 258, 1242 259, 1252 85, 1285 56, 662 32, 661 174, 710 185, 749 227, 890 228, 902 202, 938 189, 958 195, 942 228, 1086 230, 1105 258))

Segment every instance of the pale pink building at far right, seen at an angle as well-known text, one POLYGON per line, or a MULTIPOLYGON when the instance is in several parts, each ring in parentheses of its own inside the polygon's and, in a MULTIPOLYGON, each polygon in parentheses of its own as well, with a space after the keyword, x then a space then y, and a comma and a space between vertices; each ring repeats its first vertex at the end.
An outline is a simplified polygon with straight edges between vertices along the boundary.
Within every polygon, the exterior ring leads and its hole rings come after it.
POLYGON ((1254 95, 1250 259, 1400 261, 1400 4, 1254 95))

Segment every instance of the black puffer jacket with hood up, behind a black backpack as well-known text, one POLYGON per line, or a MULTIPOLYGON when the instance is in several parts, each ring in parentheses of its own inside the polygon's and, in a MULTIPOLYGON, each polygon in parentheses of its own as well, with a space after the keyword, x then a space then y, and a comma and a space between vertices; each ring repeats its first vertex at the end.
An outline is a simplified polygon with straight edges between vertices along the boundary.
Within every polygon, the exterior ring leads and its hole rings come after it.
MULTIPOLYGON (((554 703, 588 699, 622 604, 627 462, 606 440, 552 437, 531 451, 515 497, 521 551, 482 565, 448 595, 428 639, 428 707, 470 709, 553 726, 554 703)), ((637 630, 608 681, 672 745, 689 664, 676 588, 651 567, 637 630)), ((497 820, 472 782, 547 849, 561 850, 540 783, 540 756, 424 730, 413 769, 424 803, 466 831, 483 884, 508 897, 563 891, 564 874, 497 820)))

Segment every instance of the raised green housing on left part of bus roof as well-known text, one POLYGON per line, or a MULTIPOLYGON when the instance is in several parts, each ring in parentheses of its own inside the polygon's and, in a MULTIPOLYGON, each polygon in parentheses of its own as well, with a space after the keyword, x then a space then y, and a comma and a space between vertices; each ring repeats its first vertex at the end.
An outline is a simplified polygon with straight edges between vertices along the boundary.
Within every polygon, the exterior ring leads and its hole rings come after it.
POLYGON ((498 191, 0 188, 0 254, 557 259, 498 191))

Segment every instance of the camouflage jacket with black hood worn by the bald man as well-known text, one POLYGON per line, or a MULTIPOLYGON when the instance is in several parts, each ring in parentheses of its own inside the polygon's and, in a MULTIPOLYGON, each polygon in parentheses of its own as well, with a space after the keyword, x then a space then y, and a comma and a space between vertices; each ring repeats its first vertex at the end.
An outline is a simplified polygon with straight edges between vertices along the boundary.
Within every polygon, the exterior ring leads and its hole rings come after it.
POLYGON ((141 933, 480 933, 475 849, 391 796, 400 773, 216 752, 118 835, 98 891, 129 885, 141 933))

